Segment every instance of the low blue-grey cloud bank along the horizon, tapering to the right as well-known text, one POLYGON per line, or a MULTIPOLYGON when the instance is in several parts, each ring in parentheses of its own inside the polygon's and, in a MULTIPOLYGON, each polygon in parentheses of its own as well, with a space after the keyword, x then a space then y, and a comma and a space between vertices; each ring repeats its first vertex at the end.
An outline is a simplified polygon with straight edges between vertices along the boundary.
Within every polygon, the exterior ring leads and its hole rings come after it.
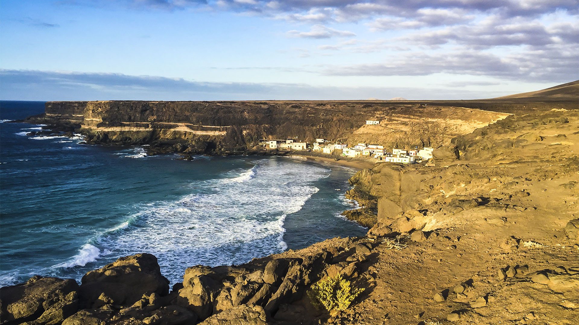
POLYGON ((272 100, 272 99, 475 99, 504 93, 457 88, 314 87, 283 83, 207 83, 181 78, 129 76, 119 73, 80 73, 0 70, 3 100, 272 100))

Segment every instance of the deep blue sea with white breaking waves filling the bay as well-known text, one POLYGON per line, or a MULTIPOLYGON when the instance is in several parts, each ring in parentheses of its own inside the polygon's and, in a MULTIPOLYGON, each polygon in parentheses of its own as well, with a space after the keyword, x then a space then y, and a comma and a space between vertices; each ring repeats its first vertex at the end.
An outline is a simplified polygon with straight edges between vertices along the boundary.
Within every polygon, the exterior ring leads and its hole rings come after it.
POLYGON ((144 147, 27 136, 6 120, 44 102, 0 101, 0 285, 75 278, 151 253, 171 283, 192 265, 242 264, 366 230, 339 214, 354 169, 288 157, 148 157, 144 147))

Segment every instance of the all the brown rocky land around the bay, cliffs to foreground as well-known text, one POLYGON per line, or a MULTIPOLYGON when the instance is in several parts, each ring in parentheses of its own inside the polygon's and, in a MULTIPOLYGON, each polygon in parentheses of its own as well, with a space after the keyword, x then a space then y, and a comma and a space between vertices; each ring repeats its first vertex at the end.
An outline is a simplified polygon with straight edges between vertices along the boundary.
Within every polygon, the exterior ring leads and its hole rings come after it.
POLYGON ((387 101, 47 103, 47 115, 31 121, 85 125, 81 130, 93 143, 197 139, 213 143, 203 152, 226 153, 236 146, 247 152, 264 136, 404 139, 364 126, 378 117, 391 122, 386 128, 395 124, 405 132, 406 146, 426 145, 428 137, 439 146, 428 163, 378 162, 350 179, 349 195, 370 209, 364 213, 375 211, 364 237, 328 239, 243 265, 192 266, 172 288, 146 253, 88 272, 80 285, 35 276, 0 290, 0 322, 577 324, 576 86, 558 88, 571 87, 572 100, 547 91, 545 97, 460 102, 464 109, 387 101), (462 117, 441 113, 445 109, 462 117), (390 112, 397 113, 390 119, 390 112), (427 120, 437 126, 413 135, 413 123, 427 120), (317 309, 305 292, 338 274, 364 291, 345 311, 317 309))

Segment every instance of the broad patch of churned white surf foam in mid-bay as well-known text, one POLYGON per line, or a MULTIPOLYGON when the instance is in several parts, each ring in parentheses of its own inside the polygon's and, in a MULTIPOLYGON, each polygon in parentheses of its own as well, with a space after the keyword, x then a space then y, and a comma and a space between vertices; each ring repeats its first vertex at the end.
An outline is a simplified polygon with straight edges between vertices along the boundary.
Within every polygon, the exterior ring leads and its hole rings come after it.
POLYGON ((319 165, 272 161, 246 169, 243 182, 199 181, 191 184, 193 194, 137 206, 126 223, 98 235, 95 245, 111 252, 107 258, 152 253, 173 283, 191 265, 242 264, 283 252, 285 217, 301 210, 318 191, 313 182, 328 175, 319 165))

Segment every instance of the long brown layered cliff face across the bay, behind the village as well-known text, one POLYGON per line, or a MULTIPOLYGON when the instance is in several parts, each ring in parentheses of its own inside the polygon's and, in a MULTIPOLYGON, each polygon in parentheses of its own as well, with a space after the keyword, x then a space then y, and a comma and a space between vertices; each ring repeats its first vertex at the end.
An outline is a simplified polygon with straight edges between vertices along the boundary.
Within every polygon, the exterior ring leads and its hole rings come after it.
POLYGON ((452 103, 369 101, 47 102, 42 119, 78 124, 91 143, 193 145, 192 152, 244 152, 259 139, 316 138, 380 143, 387 147, 437 146, 508 114, 452 103), (380 120, 366 125, 366 120, 380 120), (201 146, 195 143, 203 143, 201 146))

